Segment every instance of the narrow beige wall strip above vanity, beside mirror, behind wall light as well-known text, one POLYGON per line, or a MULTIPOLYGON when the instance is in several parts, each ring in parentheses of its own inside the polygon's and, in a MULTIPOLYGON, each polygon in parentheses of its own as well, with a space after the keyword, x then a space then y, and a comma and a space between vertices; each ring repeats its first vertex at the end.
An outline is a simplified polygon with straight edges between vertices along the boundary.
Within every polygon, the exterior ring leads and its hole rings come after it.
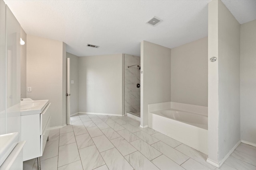
POLYGON ((20 37, 25 41, 24 45, 20 46, 20 98, 26 98, 26 83, 27 83, 27 34, 20 27, 20 37))

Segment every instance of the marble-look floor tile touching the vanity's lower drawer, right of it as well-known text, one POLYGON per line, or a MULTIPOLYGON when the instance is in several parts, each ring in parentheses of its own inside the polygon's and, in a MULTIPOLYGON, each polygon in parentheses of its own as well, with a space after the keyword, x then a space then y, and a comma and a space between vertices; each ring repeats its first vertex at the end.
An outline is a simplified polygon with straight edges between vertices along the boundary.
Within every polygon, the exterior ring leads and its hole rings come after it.
POLYGON ((58 156, 59 141, 48 141, 44 148, 44 154, 41 156, 41 160, 58 156))

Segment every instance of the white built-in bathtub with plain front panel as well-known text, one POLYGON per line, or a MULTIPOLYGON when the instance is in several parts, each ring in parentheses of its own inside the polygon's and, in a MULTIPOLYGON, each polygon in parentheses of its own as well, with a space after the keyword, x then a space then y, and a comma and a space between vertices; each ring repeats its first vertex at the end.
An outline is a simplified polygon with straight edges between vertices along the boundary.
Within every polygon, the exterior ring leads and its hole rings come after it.
POLYGON ((153 105, 148 107, 148 127, 208 154, 207 115, 172 109, 166 103, 153 105))

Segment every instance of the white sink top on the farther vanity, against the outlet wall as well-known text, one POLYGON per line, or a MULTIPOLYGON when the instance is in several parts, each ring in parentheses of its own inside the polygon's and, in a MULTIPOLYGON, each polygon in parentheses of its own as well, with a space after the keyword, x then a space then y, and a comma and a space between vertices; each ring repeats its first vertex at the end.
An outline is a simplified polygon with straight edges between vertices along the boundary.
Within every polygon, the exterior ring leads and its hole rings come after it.
POLYGON ((48 103, 49 100, 23 99, 23 101, 20 101, 20 115, 40 114, 48 103))

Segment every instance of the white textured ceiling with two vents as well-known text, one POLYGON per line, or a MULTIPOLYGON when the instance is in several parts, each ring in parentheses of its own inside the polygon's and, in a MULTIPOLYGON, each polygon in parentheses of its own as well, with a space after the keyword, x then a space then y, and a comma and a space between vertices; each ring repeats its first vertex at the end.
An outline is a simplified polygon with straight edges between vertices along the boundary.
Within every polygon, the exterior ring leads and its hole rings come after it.
MULTIPOLYGON (((222 0, 240 23, 256 0, 222 0)), ((24 31, 67 44, 77 56, 140 55, 142 40, 173 48, 206 37, 210 0, 4 0, 24 31), (163 21, 146 24, 153 16, 163 21), (98 49, 86 47, 99 45, 98 49)))

